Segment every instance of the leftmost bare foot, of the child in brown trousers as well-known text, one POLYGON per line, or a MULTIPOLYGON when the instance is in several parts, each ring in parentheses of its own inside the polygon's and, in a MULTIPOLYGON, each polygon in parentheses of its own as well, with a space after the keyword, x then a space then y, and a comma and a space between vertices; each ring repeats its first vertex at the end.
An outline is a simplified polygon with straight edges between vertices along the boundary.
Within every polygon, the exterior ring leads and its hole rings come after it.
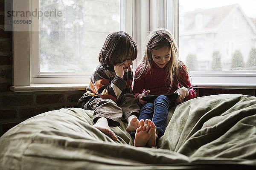
POLYGON ((117 140, 116 134, 108 126, 108 120, 105 117, 99 118, 97 122, 93 125, 93 127, 96 127, 97 129, 108 135, 114 141, 117 140))

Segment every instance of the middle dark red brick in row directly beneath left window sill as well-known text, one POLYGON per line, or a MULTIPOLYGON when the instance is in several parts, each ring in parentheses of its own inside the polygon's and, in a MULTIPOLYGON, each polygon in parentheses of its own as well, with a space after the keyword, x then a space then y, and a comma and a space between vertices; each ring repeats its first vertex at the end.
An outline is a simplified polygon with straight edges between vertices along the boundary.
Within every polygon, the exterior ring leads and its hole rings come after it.
POLYGON ((64 94, 37 95, 36 103, 38 105, 64 103, 64 94))

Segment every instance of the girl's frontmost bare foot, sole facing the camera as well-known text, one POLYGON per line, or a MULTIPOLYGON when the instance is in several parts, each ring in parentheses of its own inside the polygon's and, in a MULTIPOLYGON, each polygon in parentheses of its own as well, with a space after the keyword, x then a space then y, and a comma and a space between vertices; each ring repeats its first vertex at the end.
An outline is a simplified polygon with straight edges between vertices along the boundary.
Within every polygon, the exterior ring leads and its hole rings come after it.
POLYGON ((140 120, 140 127, 137 128, 135 133, 135 139, 134 139, 134 146, 136 147, 144 147, 148 139, 152 136, 154 133, 154 128, 149 127, 148 125, 145 125, 144 120, 140 120))

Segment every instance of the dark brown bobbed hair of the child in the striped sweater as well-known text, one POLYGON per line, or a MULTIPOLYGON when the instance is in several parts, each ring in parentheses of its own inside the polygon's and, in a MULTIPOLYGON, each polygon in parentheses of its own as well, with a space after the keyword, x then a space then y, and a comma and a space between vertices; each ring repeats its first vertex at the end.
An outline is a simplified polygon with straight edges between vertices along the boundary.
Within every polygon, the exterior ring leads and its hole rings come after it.
POLYGON ((137 45, 132 37, 124 31, 113 32, 108 35, 99 53, 99 62, 113 67, 125 60, 137 58, 137 45))

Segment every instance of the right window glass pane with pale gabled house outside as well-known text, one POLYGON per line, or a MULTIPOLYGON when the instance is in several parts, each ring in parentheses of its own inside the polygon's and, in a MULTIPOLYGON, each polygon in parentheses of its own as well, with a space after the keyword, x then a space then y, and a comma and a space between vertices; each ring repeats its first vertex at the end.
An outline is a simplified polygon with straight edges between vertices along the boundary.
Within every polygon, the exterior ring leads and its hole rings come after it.
POLYGON ((179 0, 180 59, 190 71, 256 70, 256 0, 179 0))

